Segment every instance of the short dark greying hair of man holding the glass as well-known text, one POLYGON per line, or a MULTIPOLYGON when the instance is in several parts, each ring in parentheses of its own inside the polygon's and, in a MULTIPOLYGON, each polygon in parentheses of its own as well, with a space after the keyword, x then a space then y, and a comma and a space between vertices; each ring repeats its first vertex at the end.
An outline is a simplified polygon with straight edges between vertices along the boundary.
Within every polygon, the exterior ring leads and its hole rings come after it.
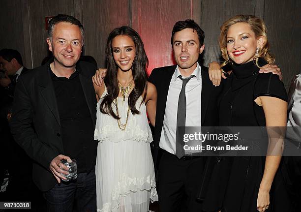
POLYGON ((83 36, 83 39, 84 39, 84 27, 81 24, 81 22, 79 20, 77 20, 76 18, 74 18, 73 16, 64 15, 64 14, 59 14, 50 20, 50 22, 48 24, 48 33, 47 33, 47 37, 49 39, 51 39, 51 37, 52 37, 54 26, 60 22, 67 22, 67 23, 78 26, 81 31, 81 34, 83 36))

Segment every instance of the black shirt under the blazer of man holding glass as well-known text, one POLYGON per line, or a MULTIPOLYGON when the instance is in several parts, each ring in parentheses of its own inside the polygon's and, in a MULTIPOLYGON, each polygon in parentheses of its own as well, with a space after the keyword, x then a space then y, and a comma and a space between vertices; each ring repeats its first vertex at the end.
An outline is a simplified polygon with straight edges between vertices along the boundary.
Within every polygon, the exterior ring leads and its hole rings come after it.
POLYGON ((79 69, 68 78, 57 77, 50 69, 60 115, 63 154, 77 161, 77 172, 86 172, 87 145, 93 141, 94 127, 79 78, 79 69))

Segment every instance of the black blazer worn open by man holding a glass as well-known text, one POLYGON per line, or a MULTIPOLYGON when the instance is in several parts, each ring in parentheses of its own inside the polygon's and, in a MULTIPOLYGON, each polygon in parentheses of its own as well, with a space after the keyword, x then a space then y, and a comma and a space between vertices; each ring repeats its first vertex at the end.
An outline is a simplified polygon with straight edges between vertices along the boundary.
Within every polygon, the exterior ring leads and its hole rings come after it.
MULTIPOLYGON (((35 161, 32 167, 33 181, 42 191, 56 184, 49 165, 56 156, 64 154, 59 111, 48 68, 49 63, 19 76, 10 121, 15 141, 35 161)), ((95 126, 96 97, 91 77, 96 67, 88 62, 78 62, 76 68, 80 69, 80 82, 95 126)), ((96 141, 87 144, 88 150, 96 148, 96 141)), ((87 171, 95 166, 96 155, 91 153, 89 156, 91 163, 87 164, 87 171)))

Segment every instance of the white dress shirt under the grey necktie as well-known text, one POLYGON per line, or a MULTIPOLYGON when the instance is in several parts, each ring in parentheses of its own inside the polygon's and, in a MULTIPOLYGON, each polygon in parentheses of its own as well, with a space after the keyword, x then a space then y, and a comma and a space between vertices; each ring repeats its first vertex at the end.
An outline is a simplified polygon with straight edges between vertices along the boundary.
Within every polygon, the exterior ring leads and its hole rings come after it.
MULTIPOLYGON (((182 88, 181 72, 177 66, 168 89, 163 127, 160 138, 160 148, 172 154, 176 152, 176 131, 178 101, 182 88)), ((201 93, 202 75, 201 66, 197 63, 192 77, 186 84, 186 120, 185 126, 201 126, 201 93)), ((186 77, 185 77, 186 78, 186 77)), ((188 77, 187 77, 188 78, 188 77)))

